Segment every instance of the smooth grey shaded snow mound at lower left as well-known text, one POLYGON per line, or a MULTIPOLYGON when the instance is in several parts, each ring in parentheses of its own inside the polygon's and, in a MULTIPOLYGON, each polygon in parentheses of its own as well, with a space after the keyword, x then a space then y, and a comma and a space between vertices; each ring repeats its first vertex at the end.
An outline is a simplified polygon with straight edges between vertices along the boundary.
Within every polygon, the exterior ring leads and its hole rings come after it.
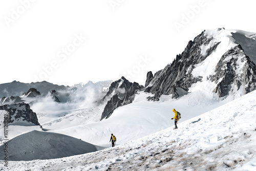
MULTIPOLYGON (((0 146, 4 156, 5 145, 0 146)), ((54 159, 97 151, 93 144, 44 131, 31 131, 8 141, 8 160, 54 159)))

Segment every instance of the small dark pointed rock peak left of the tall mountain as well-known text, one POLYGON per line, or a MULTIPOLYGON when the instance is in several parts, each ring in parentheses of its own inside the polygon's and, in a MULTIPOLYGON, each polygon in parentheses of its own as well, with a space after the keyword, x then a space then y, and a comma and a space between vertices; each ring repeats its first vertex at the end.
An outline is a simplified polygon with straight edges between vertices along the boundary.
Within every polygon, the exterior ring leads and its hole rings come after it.
POLYGON ((109 88, 109 92, 102 99, 110 98, 108 103, 105 105, 100 120, 109 118, 118 107, 132 103, 137 91, 142 88, 143 86, 140 86, 137 82, 129 82, 124 77, 113 82, 109 88))

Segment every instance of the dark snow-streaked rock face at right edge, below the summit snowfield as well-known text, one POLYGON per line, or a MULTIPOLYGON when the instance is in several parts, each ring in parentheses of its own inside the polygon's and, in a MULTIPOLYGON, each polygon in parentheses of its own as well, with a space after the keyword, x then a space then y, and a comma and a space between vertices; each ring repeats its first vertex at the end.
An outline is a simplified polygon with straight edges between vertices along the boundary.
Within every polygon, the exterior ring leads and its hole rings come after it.
POLYGON ((210 80, 217 84, 214 89, 214 93, 217 93, 219 97, 227 96, 232 89, 233 83, 237 90, 243 85, 247 85, 242 90, 244 94, 249 93, 256 89, 256 66, 246 56, 243 48, 238 45, 227 51, 220 59, 216 66, 216 74, 210 76, 210 80), (245 62, 242 69, 239 68, 240 63, 245 62), (237 73, 236 70, 240 69, 237 73), (221 79, 222 78, 222 79, 221 79))

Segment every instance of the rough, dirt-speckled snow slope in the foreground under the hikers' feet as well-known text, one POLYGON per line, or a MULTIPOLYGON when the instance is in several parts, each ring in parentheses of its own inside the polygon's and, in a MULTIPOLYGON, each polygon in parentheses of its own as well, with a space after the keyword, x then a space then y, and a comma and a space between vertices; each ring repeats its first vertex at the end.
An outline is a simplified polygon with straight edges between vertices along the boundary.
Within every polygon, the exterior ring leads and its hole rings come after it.
MULTIPOLYGON (((256 91, 150 136, 61 159, 9 161, 11 170, 256 170, 256 91)), ((118 138, 118 137, 117 137, 118 138)), ((1 167, 6 169, 4 161, 1 167)))

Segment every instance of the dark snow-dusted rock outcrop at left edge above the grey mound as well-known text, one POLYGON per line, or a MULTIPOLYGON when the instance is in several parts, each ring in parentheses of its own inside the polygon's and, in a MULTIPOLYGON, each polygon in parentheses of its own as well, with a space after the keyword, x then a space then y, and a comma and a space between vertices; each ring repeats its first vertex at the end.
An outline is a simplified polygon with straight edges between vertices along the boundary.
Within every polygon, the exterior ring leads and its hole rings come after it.
POLYGON ((5 110, 8 114, 8 123, 13 123, 16 121, 32 122, 35 125, 39 125, 36 113, 34 113, 29 104, 27 103, 17 103, 17 104, 6 104, 0 106, 0 110, 5 110))

